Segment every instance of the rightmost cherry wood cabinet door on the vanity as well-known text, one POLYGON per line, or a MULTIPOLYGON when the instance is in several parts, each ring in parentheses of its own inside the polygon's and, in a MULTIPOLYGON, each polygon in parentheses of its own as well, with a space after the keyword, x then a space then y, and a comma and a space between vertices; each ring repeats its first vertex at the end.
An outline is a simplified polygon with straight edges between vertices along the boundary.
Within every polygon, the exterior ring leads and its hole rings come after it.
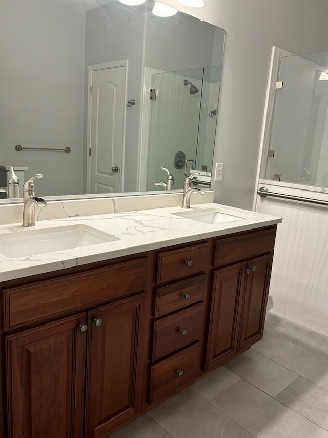
POLYGON ((240 337, 238 350, 245 350, 263 336, 273 255, 248 262, 242 293, 240 337))

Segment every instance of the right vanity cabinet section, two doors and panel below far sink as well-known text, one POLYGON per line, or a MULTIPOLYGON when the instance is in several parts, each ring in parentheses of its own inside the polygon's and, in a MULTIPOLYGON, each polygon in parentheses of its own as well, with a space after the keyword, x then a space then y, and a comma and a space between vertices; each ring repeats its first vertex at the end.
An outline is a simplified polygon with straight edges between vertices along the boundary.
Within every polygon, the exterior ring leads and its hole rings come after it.
POLYGON ((215 263, 243 259, 250 252, 269 253, 213 272, 205 369, 212 370, 250 348, 263 336, 275 231, 217 242, 215 263), (247 250, 248 248, 248 250, 247 250), (220 258, 221 256, 221 258, 220 258))

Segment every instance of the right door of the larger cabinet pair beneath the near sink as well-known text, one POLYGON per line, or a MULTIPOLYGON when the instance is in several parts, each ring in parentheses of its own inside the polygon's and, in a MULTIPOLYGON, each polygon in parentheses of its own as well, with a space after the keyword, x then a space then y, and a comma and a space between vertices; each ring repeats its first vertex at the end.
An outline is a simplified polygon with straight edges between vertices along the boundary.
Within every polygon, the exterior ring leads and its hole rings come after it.
POLYGON ((146 360, 144 311, 145 294, 90 311, 85 434, 88 438, 110 433, 140 411, 142 364, 146 360))

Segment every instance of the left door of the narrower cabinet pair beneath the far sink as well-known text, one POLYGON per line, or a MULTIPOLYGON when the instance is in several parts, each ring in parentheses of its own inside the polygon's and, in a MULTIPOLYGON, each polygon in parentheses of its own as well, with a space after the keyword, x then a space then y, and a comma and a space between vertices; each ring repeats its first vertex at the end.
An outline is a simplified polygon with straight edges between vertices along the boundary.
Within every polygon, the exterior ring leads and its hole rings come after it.
POLYGON ((237 352, 244 268, 245 263, 239 263, 213 273, 206 370, 218 367, 237 352))

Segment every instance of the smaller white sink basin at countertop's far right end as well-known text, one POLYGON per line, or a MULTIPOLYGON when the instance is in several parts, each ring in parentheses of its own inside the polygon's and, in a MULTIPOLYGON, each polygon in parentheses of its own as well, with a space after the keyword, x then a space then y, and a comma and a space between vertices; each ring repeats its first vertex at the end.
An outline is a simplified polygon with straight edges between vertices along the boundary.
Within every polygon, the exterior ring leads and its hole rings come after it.
POLYGON ((187 210, 185 212, 172 214, 186 219, 192 219, 197 220, 198 222, 212 224, 235 222, 241 219, 254 219, 253 215, 241 212, 232 212, 231 210, 226 210, 219 207, 204 208, 203 210, 187 210))

